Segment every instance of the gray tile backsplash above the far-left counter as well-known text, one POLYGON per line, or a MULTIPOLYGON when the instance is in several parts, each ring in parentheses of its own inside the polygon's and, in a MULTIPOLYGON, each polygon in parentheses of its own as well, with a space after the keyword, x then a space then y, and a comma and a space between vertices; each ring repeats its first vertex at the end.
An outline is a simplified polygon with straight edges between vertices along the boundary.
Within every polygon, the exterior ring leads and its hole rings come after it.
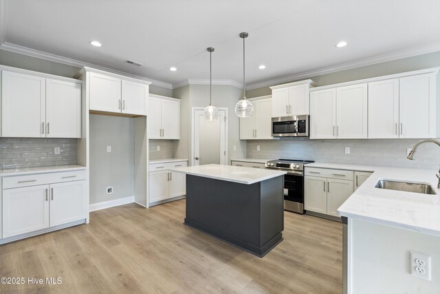
POLYGON ((0 138, 0 169, 56 165, 76 165, 76 139, 0 138))

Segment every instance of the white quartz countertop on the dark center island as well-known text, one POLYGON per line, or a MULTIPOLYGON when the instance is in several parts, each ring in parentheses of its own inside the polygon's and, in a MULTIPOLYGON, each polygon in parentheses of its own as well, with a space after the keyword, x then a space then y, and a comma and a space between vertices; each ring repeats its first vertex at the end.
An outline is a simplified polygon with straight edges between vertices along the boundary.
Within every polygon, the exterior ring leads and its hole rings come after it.
POLYGON ((197 165, 193 167, 178 167, 170 169, 170 171, 204 178, 226 180, 229 182, 239 182, 240 184, 246 185, 287 174, 285 171, 253 169, 252 167, 234 167, 232 165, 197 165))

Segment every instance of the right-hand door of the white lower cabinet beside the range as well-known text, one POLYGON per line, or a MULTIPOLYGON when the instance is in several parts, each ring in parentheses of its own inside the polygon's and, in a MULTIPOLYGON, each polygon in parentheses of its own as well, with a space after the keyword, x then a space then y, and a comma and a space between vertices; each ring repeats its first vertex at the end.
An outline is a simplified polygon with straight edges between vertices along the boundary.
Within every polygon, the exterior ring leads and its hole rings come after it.
POLYGON ((352 193, 352 180, 327 179, 327 214, 329 216, 338 216, 338 208, 352 193))

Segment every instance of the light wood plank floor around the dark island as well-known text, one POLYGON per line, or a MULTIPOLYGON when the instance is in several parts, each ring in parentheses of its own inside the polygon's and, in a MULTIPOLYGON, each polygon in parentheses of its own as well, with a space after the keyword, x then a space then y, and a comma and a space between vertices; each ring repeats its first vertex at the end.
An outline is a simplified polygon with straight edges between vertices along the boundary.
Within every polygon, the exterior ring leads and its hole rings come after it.
POLYGON ((285 212, 264 258, 184 226, 185 200, 91 213, 90 224, 0 246, 0 277, 61 277, 1 293, 342 293, 342 224, 285 212))

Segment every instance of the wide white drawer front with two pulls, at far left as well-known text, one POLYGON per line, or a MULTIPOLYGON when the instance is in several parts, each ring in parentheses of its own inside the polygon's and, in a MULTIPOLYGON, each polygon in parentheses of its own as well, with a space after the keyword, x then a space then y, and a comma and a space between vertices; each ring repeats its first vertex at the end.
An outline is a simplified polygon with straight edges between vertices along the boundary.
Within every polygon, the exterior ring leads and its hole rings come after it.
POLYGON ((52 184, 54 182, 69 182, 85 180, 86 171, 63 171, 50 174, 34 174, 25 176, 11 176, 3 178, 3 189, 29 187, 52 184))

